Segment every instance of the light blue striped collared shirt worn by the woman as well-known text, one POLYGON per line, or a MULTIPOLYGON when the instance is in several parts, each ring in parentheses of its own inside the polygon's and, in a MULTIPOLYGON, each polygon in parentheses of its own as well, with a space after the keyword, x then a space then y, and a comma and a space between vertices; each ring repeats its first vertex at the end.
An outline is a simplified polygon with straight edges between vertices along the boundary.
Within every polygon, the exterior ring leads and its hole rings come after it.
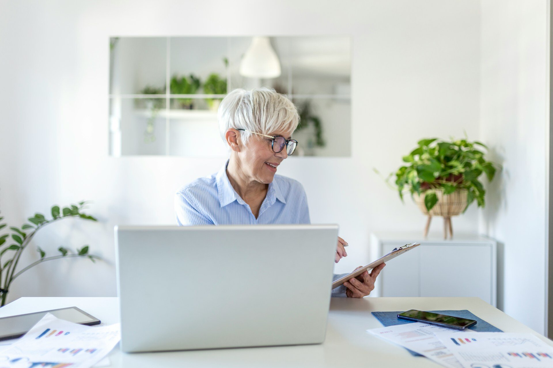
MULTIPOLYGON (((300 182, 274 175, 255 218, 228 180, 227 165, 228 160, 216 174, 196 179, 179 189, 175 195, 175 212, 180 226, 310 223, 307 196, 300 182)), ((334 279, 341 276, 334 275, 334 279)), ((332 290, 332 296, 345 297, 346 287, 332 290)))

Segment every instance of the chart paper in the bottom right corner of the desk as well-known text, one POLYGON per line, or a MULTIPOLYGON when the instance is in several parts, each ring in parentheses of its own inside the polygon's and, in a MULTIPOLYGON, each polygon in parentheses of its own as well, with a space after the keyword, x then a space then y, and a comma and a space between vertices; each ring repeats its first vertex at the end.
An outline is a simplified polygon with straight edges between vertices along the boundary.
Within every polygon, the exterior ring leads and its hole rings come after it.
POLYGON ((553 367, 553 346, 529 333, 436 333, 463 368, 553 367))

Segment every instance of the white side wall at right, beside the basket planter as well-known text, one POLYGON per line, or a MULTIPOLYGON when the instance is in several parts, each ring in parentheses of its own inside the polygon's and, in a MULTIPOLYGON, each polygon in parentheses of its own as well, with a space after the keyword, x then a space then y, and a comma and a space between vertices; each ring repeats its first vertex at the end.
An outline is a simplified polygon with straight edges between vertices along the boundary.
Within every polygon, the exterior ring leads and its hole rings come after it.
POLYGON ((489 185, 481 231, 503 243, 499 308, 544 332, 547 1, 482 1, 481 138, 504 168, 489 185))

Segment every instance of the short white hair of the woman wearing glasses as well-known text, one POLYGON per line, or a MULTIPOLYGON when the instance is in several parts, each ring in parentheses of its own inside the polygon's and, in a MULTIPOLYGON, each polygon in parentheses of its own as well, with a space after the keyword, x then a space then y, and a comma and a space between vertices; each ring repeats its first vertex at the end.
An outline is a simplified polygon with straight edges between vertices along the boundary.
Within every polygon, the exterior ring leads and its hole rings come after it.
MULTIPOLYGON (((217 111, 219 132, 226 142, 228 129, 246 129, 260 134, 294 132, 300 116, 296 106, 284 95, 267 87, 233 89, 223 98, 217 111)), ((252 134, 241 131, 244 143, 252 134)))

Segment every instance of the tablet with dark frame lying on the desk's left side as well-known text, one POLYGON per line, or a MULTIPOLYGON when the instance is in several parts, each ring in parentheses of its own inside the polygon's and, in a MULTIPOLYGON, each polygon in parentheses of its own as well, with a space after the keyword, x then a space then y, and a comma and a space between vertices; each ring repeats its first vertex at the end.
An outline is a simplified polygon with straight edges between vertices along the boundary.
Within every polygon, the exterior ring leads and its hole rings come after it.
POLYGON ((93 324, 101 322, 100 319, 92 317, 90 314, 77 307, 19 314, 18 316, 0 318, 0 340, 15 339, 23 336, 36 324, 36 322, 40 321, 46 313, 52 313, 60 319, 65 319, 65 321, 86 324, 87 326, 92 326, 93 324))

